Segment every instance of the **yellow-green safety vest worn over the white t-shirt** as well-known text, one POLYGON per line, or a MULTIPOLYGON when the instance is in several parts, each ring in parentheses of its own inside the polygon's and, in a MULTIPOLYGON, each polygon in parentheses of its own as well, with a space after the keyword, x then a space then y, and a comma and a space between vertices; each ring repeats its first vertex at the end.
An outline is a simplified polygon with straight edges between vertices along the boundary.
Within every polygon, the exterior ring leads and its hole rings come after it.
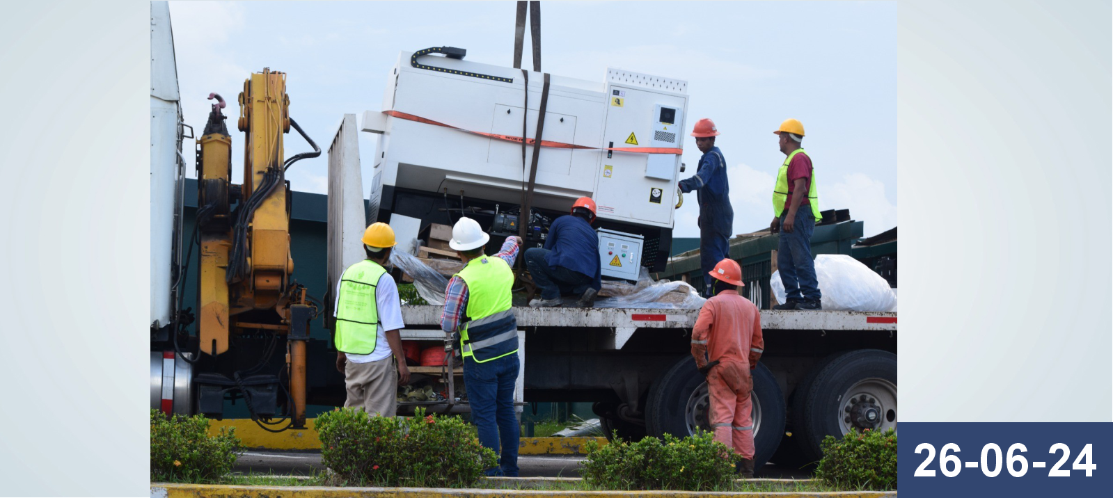
POLYGON ((336 303, 336 350, 370 355, 378 340, 378 302, 375 287, 386 269, 365 259, 352 265, 341 276, 336 303))

